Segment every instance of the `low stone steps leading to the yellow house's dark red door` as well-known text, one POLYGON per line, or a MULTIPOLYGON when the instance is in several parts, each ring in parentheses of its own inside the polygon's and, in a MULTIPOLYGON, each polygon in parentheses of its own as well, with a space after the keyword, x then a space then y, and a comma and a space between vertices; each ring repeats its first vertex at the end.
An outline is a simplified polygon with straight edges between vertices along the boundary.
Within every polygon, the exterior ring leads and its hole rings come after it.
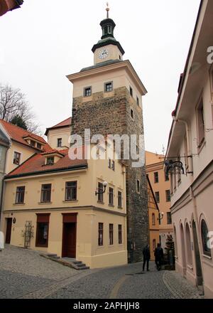
POLYGON ((53 260, 58 262, 62 265, 75 268, 75 270, 89 270, 89 266, 84 264, 82 261, 77 261, 73 258, 60 258, 57 254, 54 253, 41 253, 40 254, 43 258, 47 258, 49 260, 53 260))

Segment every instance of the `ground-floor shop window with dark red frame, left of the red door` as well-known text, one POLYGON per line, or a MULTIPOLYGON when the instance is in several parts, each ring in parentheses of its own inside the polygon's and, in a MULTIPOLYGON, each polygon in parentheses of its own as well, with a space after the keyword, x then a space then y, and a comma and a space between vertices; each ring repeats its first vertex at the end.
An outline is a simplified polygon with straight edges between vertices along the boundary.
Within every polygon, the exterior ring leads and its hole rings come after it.
POLYGON ((37 214, 35 247, 48 247, 50 214, 37 214))

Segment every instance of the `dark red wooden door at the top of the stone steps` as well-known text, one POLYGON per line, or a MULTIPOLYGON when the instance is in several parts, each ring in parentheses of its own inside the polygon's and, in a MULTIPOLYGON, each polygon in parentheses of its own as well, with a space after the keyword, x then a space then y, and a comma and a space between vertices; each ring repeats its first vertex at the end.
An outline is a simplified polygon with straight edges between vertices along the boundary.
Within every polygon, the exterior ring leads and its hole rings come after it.
POLYGON ((76 223, 63 223, 62 258, 76 256, 76 223))

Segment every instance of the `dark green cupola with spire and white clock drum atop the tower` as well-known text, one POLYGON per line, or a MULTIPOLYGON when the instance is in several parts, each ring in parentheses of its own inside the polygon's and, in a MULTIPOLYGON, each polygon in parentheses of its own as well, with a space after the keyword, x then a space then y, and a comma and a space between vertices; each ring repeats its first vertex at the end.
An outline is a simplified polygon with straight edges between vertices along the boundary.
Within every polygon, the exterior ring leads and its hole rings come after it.
POLYGON ((116 23, 109 18, 109 6, 107 4, 107 18, 101 21, 102 38, 93 47, 94 64, 107 60, 122 60, 125 53, 119 41, 114 38, 114 28, 116 23))

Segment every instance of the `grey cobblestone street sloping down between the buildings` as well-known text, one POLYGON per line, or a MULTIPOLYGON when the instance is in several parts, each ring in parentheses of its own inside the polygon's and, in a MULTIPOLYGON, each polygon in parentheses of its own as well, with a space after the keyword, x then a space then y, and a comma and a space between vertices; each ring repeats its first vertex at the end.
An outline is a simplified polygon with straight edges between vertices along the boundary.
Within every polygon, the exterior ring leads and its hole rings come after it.
POLYGON ((77 271, 38 252, 6 246, 0 253, 0 298, 174 299, 202 298, 176 272, 141 272, 141 263, 77 271))

